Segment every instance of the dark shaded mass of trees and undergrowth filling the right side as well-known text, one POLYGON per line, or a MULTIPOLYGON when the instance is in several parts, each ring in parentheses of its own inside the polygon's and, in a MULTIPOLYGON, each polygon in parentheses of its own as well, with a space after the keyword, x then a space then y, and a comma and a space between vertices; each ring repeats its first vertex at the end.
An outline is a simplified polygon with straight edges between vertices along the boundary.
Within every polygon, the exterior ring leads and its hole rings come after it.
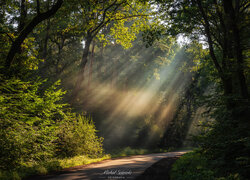
MULTIPOLYGON (((201 105, 212 120, 200 136, 202 156, 213 161, 221 176, 229 172, 249 175, 249 52, 248 12, 245 0, 222 1, 161 1, 160 12, 169 20, 168 35, 184 34, 190 40, 204 41, 209 52, 202 73, 210 80, 201 105), (212 65, 212 66, 211 66, 212 65)), ((197 59, 194 57, 194 59, 197 59)))

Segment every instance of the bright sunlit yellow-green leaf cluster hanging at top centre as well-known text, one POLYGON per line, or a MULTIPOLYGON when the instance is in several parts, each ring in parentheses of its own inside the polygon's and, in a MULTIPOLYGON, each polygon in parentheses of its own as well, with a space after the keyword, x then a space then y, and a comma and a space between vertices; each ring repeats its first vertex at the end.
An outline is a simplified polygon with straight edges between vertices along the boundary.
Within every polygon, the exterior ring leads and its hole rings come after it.
POLYGON ((136 35, 148 27, 148 8, 147 3, 124 1, 116 11, 107 12, 105 25, 110 29, 110 33, 104 36, 100 32, 98 39, 105 44, 115 42, 125 49, 131 48, 136 35))

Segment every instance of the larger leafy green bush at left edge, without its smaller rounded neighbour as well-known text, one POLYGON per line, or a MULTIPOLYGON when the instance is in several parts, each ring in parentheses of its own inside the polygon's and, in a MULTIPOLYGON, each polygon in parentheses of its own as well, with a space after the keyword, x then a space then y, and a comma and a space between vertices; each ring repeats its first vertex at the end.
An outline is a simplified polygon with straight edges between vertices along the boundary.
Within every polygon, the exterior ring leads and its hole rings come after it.
MULTIPOLYGON (((59 82, 58 82, 59 83, 59 82)), ((42 82, 7 79, 0 82, 0 167, 12 169, 22 162, 41 161, 53 156, 58 114, 56 104, 64 94, 56 83, 42 94, 42 82)))

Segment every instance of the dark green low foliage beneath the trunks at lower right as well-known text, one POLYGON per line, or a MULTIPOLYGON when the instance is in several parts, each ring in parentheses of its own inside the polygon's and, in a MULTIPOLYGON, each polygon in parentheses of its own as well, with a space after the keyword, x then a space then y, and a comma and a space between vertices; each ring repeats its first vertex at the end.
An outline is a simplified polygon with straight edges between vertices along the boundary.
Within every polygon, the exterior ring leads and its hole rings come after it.
POLYGON ((249 124, 242 122, 242 115, 245 105, 235 107, 231 112, 226 110, 224 105, 224 97, 214 99, 207 97, 212 112, 210 117, 216 121, 210 122, 204 128, 209 127, 206 134, 195 137, 202 148, 202 154, 209 160, 214 160, 213 167, 218 169, 221 175, 231 173, 239 173, 243 178, 249 177, 249 124), (233 118, 235 115, 239 117, 239 121, 233 118))

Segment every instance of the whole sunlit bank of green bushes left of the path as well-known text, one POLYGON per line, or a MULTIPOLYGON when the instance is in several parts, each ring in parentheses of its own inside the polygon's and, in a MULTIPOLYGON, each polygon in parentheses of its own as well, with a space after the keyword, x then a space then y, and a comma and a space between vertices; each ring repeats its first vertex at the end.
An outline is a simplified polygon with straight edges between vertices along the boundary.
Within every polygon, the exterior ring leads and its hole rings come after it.
POLYGON ((60 82, 42 90, 43 82, 0 81, 0 169, 18 169, 57 156, 98 156, 102 139, 89 118, 60 103, 60 82))

